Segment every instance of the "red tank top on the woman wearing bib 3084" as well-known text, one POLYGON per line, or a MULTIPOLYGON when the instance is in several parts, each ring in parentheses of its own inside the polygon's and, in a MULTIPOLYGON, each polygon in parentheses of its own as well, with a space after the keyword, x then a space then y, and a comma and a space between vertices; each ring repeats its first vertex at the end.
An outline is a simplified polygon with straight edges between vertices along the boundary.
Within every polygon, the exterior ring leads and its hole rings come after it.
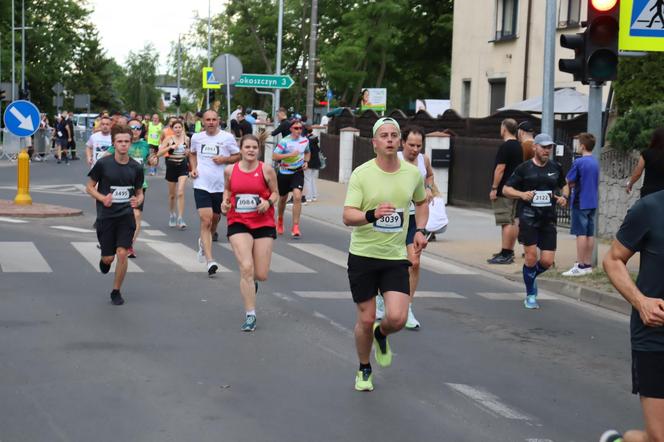
POLYGON ((259 227, 275 227, 274 207, 270 207, 265 213, 258 213, 256 207, 260 204, 260 198, 270 197, 270 188, 263 176, 263 163, 258 162, 258 167, 251 172, 240 169, 240 163, 233 165, 231 172, 231 208, 228 211, 228 225, 239 223, 249 229, 259 227))

